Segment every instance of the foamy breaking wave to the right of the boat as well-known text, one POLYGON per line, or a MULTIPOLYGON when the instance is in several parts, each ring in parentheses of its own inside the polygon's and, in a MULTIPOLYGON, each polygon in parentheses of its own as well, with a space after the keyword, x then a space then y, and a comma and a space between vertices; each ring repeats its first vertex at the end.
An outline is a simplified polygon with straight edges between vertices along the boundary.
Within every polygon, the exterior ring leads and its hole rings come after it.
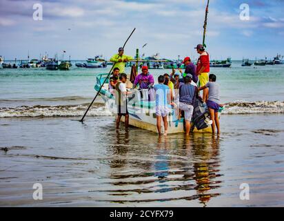
POLYGON ((222 114, 255 114, 255 113, 284 113, 284 102, 244 102, 236 101, 225 104, 222 114))

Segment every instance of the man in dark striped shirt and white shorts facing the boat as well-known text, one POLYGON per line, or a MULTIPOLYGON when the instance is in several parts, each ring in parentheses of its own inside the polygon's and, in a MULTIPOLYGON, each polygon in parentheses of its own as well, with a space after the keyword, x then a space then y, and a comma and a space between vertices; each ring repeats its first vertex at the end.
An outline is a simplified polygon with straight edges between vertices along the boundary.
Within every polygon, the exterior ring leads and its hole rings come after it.
POLYGON ((185 112, 185 133, 190 135, 190 126, 195 99, 198 98, 198 88, 191 84, 192 75, 184 77, 184 84, 179 88, 179 108, 185 112))

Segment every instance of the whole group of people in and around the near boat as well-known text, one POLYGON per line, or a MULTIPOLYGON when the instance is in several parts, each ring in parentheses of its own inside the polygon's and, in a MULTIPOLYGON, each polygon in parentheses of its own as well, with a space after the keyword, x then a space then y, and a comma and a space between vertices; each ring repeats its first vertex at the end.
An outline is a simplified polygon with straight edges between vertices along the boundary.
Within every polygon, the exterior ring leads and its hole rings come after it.
MULTIPOLYGON (((183 59, 185 72, 179 68, 179 73, 174 69, 171 75, 167 73, 158 77, 158 83, 154 84, 154 77, 149 73, 147 66, 142 66, 142 73, 134 79, 132 88, 139 86, 140 89, 154 90, 156 100, 156 127, 161 135, 161 122, 164 124, 164 135, 168 133, 168 114, 170 106, 179 110, 176 115, 181 118, 181 112, 185 118, 185 134, 190 135, 192 114, 194 104, 199 98, 199 91, 203 90, 203 102, 207 104, 212 120, 212 132, 220 133, 218 111, 220 104, 219 84, 216 84, 216 75, 210 74, 210 58, 203 45, 196 46, 196 52, 200 57, 196 66, 192 63, 190 57, 183 59), (197 86, 199 84, 199 87, 197 86)), ((132 60, 132 57, 123 55, 123 48, 119 48, 119 54, 110 59, 113 61, 113 75, 110 77, 110 92, 116 96, 116 106, 118 117, 116 119, 116 128, 119 128, 121 116, 125 116, 125 128, 128 128, 129 114, 127 108, 127 97, 133 92, 126 89, 127 75, 124 73, 125 62, 132 60)))

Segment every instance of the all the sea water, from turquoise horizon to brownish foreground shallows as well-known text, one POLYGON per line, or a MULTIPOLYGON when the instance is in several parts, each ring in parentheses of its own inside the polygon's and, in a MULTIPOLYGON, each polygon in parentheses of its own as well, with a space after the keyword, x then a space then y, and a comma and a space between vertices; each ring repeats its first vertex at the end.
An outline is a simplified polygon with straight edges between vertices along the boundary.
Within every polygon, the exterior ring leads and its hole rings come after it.
POLYGON ((284 205, 283 65, 211 69, 225 104, 219 137, 116 131, 100 99, 74 121, 108 70, 0 69, 0 206, 284 205))

